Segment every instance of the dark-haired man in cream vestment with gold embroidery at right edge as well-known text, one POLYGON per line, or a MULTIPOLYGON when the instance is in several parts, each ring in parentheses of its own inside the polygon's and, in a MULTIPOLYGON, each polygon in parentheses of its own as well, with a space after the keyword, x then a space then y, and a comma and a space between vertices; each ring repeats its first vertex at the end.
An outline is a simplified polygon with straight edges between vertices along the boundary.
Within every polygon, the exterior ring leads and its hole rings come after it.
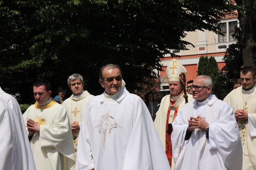
POLYGON ((240 71, 241 87, 224 99, 232 108, 243 146, 243 169, 256 169, 256 71, 245 66, 240 71))

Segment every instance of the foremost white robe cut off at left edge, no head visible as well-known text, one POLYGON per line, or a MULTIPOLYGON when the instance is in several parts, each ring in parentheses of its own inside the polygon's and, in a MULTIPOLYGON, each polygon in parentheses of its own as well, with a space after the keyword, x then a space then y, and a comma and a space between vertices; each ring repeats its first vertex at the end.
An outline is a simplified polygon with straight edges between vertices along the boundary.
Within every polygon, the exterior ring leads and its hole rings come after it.
MULTIPOLYGON (((0 98, 0 169, 35 170, 33 157, 28 156, 30 146, 24 141, 23 129, 13 109, 0 98), (31 165, 29 165, 29 163, 31 165)), ((27 137, 27 136, 26 136, 27 137)), ((31 153, 32 156, 32 153, 31 153)))

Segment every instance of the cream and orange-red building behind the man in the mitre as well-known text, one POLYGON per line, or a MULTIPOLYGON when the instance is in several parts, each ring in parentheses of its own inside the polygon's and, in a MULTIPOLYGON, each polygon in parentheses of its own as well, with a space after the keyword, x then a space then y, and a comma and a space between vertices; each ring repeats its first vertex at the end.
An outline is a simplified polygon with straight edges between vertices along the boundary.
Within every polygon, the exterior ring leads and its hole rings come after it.
MULTIPOLYGON (((171 50, 171 52, 181 56, 175 57, 179 63, 181 63, 187 70, 186 80, 193 80, 197 76, 197 65, 199 62, 199 58, 201 56, 213 56, 217 61, 218 68, 222 69, 225 65, 222 60, 226 49, 230 44, 236 43, 236 40, 231 36, 234 33, 234 28, 239 27, 238 22, 238 14, 237 12, 225 13, 225 17, 220 21, 219 28, 221 28, 221 32, 225 35, 222 36, 220 34, 216 34, 210 31, 195 31, 195 32, 187 32, 187 36, 184 40, 192 43, 193 46, 187 46, 189 49, 187 51, 180 50, 171 50)), ((162 58, 161 63, 163 64, 162 69, 166 70, 168 63, 173 58, 170 55, 166 55, 162 58)), ((160 89, 165 90, 169 89, 168 80, 166 79, 166 72, 159 72, 160 75, 160 89)))

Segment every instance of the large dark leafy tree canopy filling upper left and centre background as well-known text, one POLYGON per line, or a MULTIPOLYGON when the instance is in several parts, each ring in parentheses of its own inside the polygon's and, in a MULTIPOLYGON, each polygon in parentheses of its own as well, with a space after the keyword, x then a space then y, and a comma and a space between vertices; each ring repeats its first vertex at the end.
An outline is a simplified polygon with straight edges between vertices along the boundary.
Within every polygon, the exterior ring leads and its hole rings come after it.
POLYGON ((169 49, 191 45, 186 32, 217 33, 222 11, 232 7, 227 0, 0 0, 0 85, 24 103, 34 81, 56 90, 80 73, 98 95, 98 70, 113 63, 133 91, 151 68, 161 70, 169 49))

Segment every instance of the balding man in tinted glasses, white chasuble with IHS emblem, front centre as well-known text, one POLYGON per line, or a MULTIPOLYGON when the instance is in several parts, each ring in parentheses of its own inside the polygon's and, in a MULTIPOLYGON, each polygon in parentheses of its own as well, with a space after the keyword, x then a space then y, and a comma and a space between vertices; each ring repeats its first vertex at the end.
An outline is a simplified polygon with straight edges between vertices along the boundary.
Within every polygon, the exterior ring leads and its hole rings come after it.
POLYGON ((170 169, 143 100, 122 87, 119 66, 100 69, 105 91, 84 112, 75 169, 170 169))

